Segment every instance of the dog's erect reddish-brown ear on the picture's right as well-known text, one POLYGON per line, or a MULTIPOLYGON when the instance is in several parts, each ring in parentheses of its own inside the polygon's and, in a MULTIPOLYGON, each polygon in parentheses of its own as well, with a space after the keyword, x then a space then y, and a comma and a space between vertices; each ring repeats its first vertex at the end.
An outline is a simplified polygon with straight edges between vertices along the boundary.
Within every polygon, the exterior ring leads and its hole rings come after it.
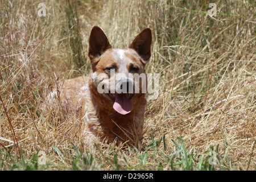
POLYGON ((152 35, 150 28, 144 29, 137 37, 133 40, 133 43, 129 48, 134 49, 142 59, 147 62, 151 56, 152 35))

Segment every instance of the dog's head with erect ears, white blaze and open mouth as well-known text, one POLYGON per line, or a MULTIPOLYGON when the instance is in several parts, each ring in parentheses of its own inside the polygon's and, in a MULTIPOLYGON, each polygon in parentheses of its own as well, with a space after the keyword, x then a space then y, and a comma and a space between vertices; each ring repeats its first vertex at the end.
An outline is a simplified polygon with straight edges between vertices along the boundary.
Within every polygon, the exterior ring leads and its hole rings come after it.
POLYGON ((128 114, 146 93, 144 66, 150 59, 150 28, 144 29, 127 49, 114 49, 100 27, 93 27, 89 38, 92 80, 99 97, 120 114, 128 114))

